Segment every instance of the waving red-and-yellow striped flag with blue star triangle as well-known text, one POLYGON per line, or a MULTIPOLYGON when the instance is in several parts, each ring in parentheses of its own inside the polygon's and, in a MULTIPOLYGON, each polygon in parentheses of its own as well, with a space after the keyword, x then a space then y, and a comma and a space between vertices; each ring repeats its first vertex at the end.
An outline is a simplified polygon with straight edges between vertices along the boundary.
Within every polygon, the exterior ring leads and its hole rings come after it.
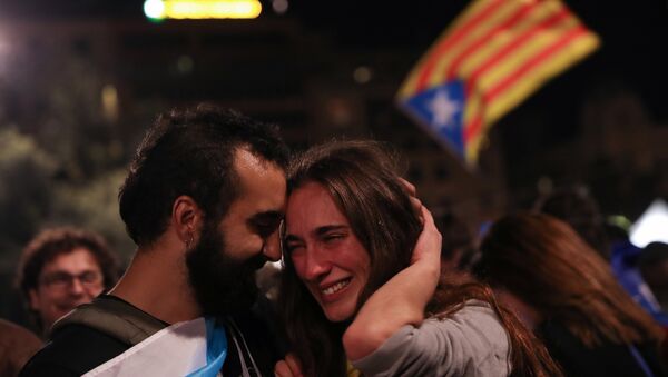
POLYGON ((413 68, 396 100, 475 166, 494 121, 598 46, 558 0, 474 0, 413 68))

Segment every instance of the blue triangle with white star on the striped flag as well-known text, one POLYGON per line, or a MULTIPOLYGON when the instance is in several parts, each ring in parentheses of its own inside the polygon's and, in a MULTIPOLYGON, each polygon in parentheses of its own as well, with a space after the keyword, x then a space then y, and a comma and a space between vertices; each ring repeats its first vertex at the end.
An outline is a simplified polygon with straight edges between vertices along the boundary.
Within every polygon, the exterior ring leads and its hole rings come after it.
POLYGON ((448 81, 418 92, 403 103, 422 125, 464 157, 463 113, 464 86, 460 80, 448 81))

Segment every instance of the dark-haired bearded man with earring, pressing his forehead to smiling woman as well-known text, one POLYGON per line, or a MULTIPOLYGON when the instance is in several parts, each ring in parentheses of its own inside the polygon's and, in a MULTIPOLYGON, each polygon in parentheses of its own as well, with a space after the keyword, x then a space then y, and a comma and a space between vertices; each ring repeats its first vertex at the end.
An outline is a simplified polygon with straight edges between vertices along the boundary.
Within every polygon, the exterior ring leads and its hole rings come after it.
POLYGON ((119 194, 135 258, 109 295, 87 307, 92 310, 79 308, 57 324, 22 375, 79 376, 130 354, 147 368, 161 367, 163 360, 132 350, 199 317, 224 319, 223 375, 273 374, 282 355, 272 345, 272 324, 249 308, 255 270, 281 257, 286 161, 277 130, 238 113, 199 106, 159 117, 119 194), (96 323, 100 316, 114 321, 109 312, 129 318, 130 331, 121 326, 119 336, 96 323))

